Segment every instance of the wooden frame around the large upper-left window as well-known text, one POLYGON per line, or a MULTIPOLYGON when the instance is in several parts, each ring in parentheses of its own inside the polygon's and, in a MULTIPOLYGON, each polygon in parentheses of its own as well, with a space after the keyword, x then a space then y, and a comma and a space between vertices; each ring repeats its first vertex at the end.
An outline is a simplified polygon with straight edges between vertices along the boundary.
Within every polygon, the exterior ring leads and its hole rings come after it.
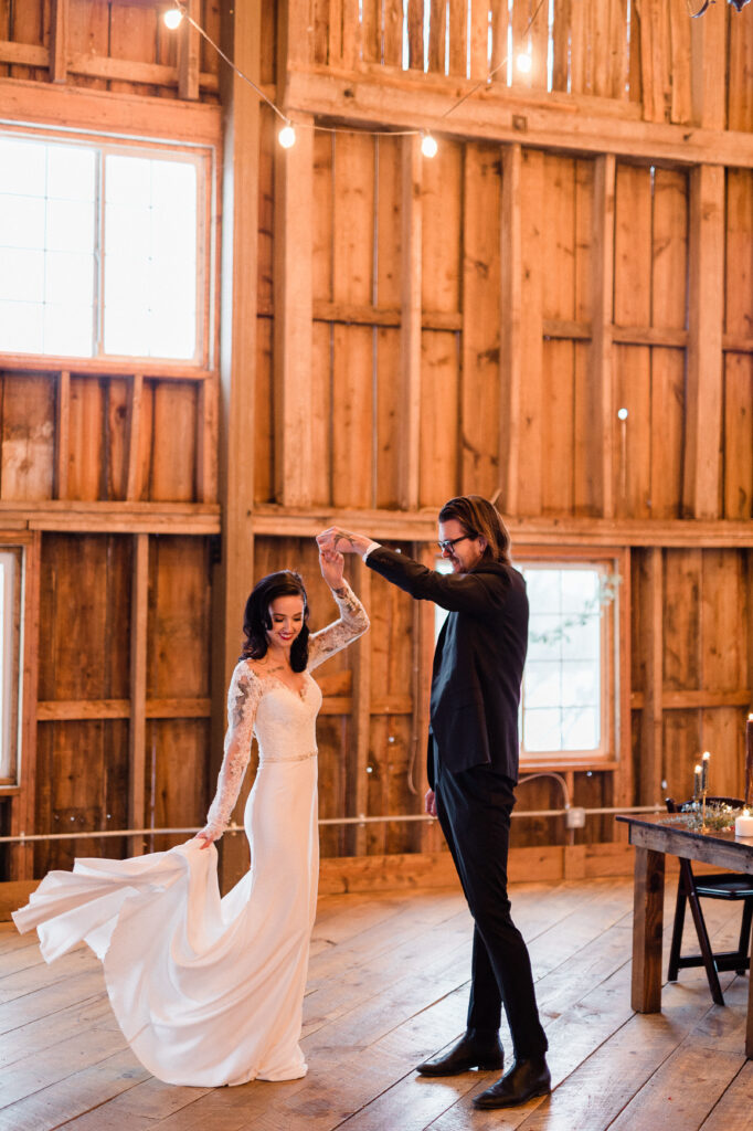
POLYGON ((173 370, 200 373, 215 364, 217 334, 217 225, 215 223, 218 199, 217 154, 207 141, 192 144, 166 138, 130 137, 127 133, 96 132, 86 129, 63 129, 52 124, 23 123, 2 120, 0 133, 32 141, 58 145, 80 145, 97 153, 97 191, 95 196, 95 299, 93 319, 93 346, 97 352, 84 354, 46 354, 24 351, 21 353, 0 349, 0 359, 9 359, 21 364, 31 359, 42 359, 45 369, 69 369, 85 372, 88 369, 109 372, 110 368, 123 371, 173 370), (196 278, 196 342, 192 359, 152 357, 142 354, 114 354, 103 352, 104 342, 104 155, 119 154, 155 159, 182 159, 197 169, 197 278, 196 278))

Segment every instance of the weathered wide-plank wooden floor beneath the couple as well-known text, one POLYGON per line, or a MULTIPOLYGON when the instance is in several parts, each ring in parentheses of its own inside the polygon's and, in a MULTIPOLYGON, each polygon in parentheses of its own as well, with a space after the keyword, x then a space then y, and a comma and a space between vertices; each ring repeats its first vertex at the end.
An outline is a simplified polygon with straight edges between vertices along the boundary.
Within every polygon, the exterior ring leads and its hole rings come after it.
MULTIPOLYGON (((470 923, 459 893, 328 896, 305 1002, 309 1076, 215 1090, 173 1088, 140 1067, 88 950, 47 967, 33 938, 2 924, 0 1131, 751 1126, 746 977, 722 976, 728 1005, 718 1008, 703 975, 682 972, 665 987, 661 1015, 637 1016, 628 880, 517 884, 512 898, 549 1038, 554 1091, 546 1099, 476 1112, 471 1096, 494 1073, 429 1080, 413 1071, 465 1027, 470 923)), ((709 917, 717 943, 732 941, 733 913, 711 904, 709 917)))

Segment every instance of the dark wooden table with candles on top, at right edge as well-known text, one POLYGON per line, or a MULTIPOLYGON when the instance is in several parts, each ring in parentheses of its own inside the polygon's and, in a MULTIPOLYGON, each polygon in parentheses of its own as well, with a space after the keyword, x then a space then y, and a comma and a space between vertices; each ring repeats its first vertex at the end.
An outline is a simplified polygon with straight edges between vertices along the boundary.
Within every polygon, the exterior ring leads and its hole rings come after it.
MULTIPOLYGON (((630 843, 635 848, 631 1004, 639 1013, 659 1013, 665 856, 683 856, 753 875, 753 837, 691 832, 682 824, 661 823, 666 817, 617 817, 617 820, 628 824, 630 843)), ((750 983, 745 1055, 753 1060, 753 976, 750 983)))

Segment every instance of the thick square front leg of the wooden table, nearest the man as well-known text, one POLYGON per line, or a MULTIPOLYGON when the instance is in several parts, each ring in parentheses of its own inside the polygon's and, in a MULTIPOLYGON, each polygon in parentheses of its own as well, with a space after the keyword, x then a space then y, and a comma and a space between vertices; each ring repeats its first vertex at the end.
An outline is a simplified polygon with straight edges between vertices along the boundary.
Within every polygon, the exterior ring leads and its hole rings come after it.
POLYGON ((638 1013, 661 1010, 664 853, 635 848, 633 974, 631 1005, 638 1013))

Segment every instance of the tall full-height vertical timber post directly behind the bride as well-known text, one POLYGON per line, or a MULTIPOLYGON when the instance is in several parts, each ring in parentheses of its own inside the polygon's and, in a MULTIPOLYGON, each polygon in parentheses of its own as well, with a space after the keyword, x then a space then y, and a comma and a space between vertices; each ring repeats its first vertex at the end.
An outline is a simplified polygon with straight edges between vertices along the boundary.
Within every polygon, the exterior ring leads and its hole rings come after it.
MULTIPOLYGON (((261 83, 261 0, 230 12, 222 6, 223 42, 236 66, 261 83)), ((223 176, 223 249, 219 353, 219 499, 222 561, 213 585, 213 727, 208 785, 214 789, 223 756, 227 687, 239 654, 243 606, 253 577, 254 382, 257 372, 257 258, 259 239, 259 98, 243 79, 220 70, 226 107, 223 176)), ((242 837, 220 849, 224 888, 248 866, 242 837)))

